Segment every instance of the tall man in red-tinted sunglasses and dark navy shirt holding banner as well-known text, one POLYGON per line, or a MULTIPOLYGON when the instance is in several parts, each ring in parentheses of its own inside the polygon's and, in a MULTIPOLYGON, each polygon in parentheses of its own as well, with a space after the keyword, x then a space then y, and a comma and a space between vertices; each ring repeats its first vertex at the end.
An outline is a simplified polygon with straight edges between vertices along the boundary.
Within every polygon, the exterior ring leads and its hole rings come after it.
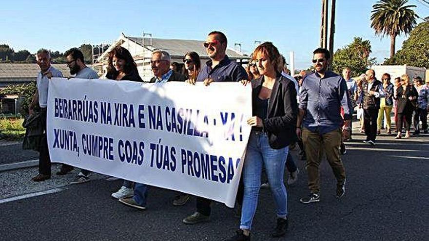
MULTIPOLYGON (((205 86, 210 83, 247 81, 246 70, 237 62, 231 61, 226 55, 227 38, 219 31, 213 31, 207 36, 204 43, 210 60, 206 62, 196 81, 203 81, 205 86)), ((189 81, 190 84, 193 82, 189 81)), ((238 196, 238 195, 237 195, 238 196)), ((212 201, 206 198, 196 198, 196 212, 183 220, 186 224, 207 222, 210 220, 212 201)))

